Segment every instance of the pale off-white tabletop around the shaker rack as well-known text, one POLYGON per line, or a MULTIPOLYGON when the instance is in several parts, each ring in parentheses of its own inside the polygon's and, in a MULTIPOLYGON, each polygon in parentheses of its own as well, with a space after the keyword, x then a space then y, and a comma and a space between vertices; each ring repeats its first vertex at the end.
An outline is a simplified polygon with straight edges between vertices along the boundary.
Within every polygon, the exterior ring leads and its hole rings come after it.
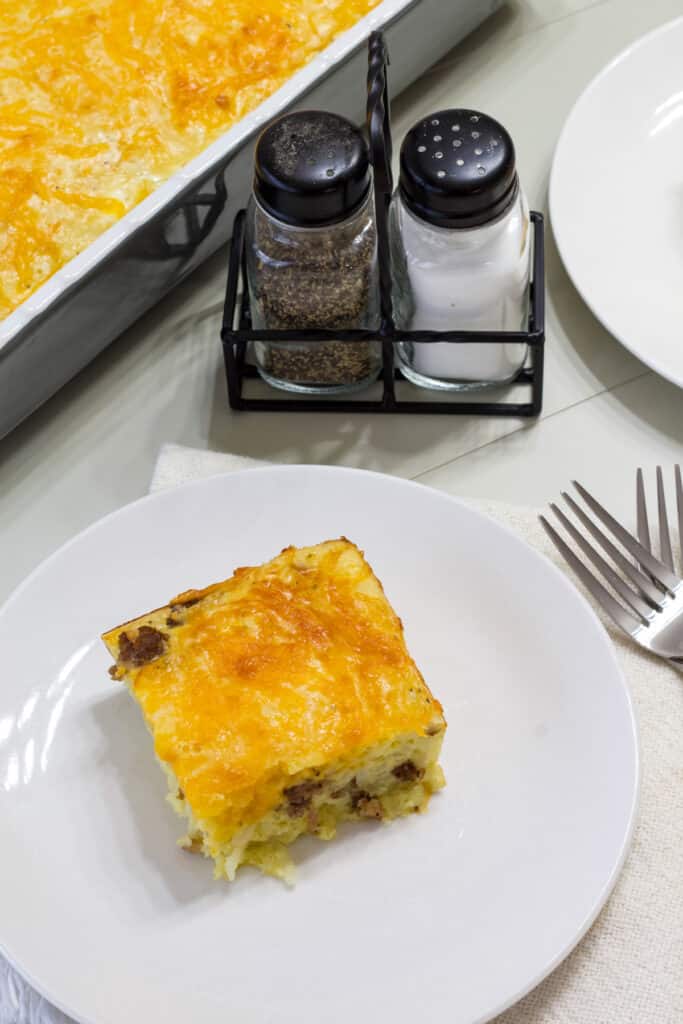
MULTIPOLYGON (((681 0, 513 0, 395 101, 395 136, 430 110, 487 111, 509 128, 530 203, 546 211, 553 150, 580 91, 681 10, 681 0)), ((600 327, 551 231, 547 241, 545 406, 532 423, 231 413, 218 254, 0 441, 0 600, 68 538, 143 495, 164 441, 360 466, 518 504, 541 505, 579 476, 631 517, 635 467, 683 457, 683 394, 600 327)))

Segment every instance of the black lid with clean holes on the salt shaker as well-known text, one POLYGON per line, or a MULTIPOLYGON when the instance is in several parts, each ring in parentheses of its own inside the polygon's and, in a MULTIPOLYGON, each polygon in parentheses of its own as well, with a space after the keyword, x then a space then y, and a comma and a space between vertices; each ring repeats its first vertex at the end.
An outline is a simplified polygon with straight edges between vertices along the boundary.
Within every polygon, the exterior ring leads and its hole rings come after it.
POLYGON ((430 114, 403 139, 399 190, 416 216, 439 227, 495 220, 517 195, 512 139, 478 111, 430 114))

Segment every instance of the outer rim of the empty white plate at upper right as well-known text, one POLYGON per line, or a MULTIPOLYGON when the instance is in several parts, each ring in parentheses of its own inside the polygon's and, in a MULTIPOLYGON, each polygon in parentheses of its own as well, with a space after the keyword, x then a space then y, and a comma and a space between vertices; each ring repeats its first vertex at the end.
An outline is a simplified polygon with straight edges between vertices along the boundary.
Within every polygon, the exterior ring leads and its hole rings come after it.
POLYGON ((629 57, 631 57, 632 54, 635 53, 637 50, 651 44, 652 40, 655 39, 656 37, 667 35, 669 32, 675 31, 679 28, 683 28, 683 14, 679 14, 676 17, 670 18, 668 22, 665 22, 663 25, 658 25, 654 29, 648 30, 642 36, 639 36, 637 39, 634 39, 633 42, 629 43, 627 46, 621 49, 618 53, 616 53, 613 57, 611 57, 607 61, 607 63, 593 76, 593 78, 588 82, 588 84, 584 86, 584 88, 573 101, 571 109, 564 120, 564 124, 562 125, 562 129, 560 131, 557 142, 555 143, 555 148, 553 152, 553 160, 550 169, 550 179, 548 182, 548 209, 550 211, 550 222, 552 226, 553 238, 555 241, 555 245, 557 246, 557 251, 560 255, 560 259, 562 260, 562 265, 571 284, 579 292, 579 295, 581 296, 583 302, 588 306, 589 310, 596 318, 596 321, 598 321, 598 323, 602 325, 602 327, 608 332, 608 334, 612 336, 612 338, 614 338, 615 341, 620 343, 620 345, 623 345, 624 348, 627 349, 627 351, 631 352, 632 355, 635 355, 635 357, 639 359, 642 364, 644 364, 644 366, 649 367, 650 370, 653 370, 654 373, 656 373, 659 377, 663 377, 665 380, 668 380, 670 383, 675 384, 679 388, 683 388, 683 369, 681 369, 681 371, 677 373, 663 366, 657 358, 652 358, 652 356, 649 355, 649 353, 645 352, 645 354, 643 354, 641 350, 634 347, 633 343, 628 341, 626 337, 623 335, 623 333, 610 323, 608 316, 606 316, 604 313, 600 312, 597 309, 594 299, 590 298, 590 296, 587 294, 584 283, 583 282, 580 283, 574 276, 574 272, 571 269, 570 261, 567 260, 566 258, 566 249, 564 248, 563 243, 561 241, 561 232, 558 232, 557 230, 558 220, 559 221, 562 220, 561 214, 559 218, 557 217, 557 211, 558 211, 557 189, 559 187, 557 185, 557 177, 559 174, 557 168, 561 160, 562 150, 566 145, 566 139, 568 138, 570 131, 574 127, 574 120, 582 113, 582 108, 584 103, 590 100, 592 93, 603 84, 603 81, 606 78, 608 78, 608 76, 613 72, 613 70, 618 65, 629 59, 629 57))

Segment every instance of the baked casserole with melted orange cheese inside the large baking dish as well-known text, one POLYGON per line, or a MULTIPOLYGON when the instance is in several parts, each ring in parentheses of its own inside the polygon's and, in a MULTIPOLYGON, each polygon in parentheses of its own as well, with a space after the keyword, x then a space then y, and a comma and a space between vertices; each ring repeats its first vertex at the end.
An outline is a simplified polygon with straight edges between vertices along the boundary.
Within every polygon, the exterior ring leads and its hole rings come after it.
POLYGON ((0 0, 0 319, 379 0, 0 0))

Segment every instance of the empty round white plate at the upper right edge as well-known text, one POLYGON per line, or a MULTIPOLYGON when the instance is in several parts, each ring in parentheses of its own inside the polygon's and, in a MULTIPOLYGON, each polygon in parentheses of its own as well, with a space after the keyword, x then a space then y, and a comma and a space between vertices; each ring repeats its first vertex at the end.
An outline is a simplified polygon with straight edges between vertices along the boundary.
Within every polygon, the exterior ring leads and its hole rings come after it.
POLYGON ((584 301, 683 387, 683 18, 620 53, 562 130, 550 214, 584 301))

